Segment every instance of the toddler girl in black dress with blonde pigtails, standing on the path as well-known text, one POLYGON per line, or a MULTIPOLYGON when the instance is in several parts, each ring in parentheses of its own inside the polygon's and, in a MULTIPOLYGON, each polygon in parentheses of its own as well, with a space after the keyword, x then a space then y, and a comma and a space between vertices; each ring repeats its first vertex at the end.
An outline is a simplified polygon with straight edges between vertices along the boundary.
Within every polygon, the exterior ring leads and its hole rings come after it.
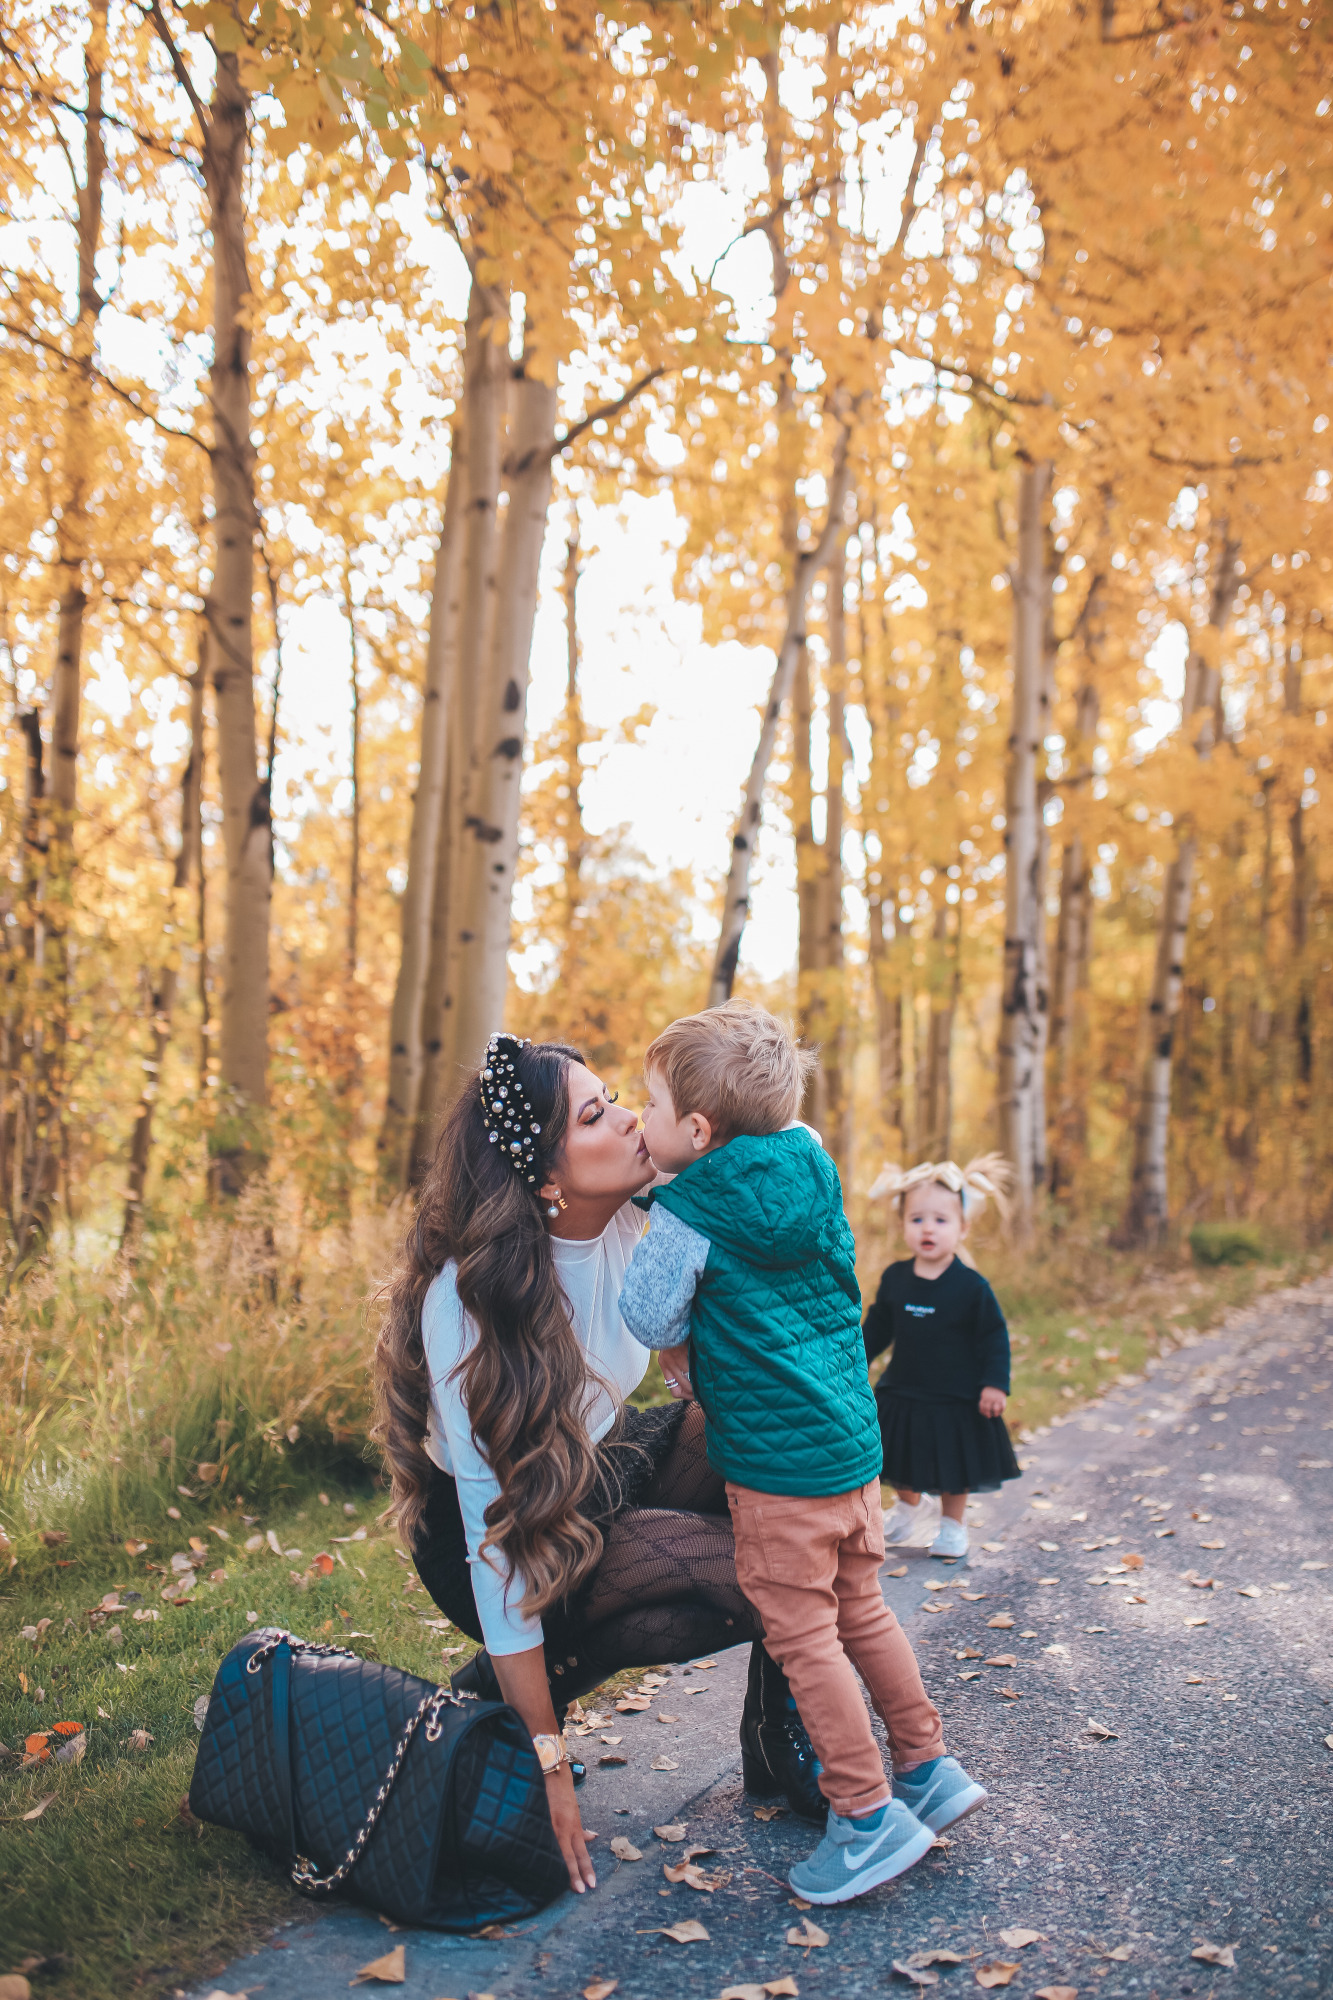
POLYGON ((885 1478, 899 1496, 885 1542, 909 1542, 925 1526, 925 1494, 939 1494, 933 1556, 967 1554, 969 1494, 1019 1478, 1005 1426, 1009 1328, 987 1280, 963 1260, 971 1216, 987 1196, 1003 1208, 1009 1180, 1009 1164, 989 1152, 967 1166, 887 1166, 871 1188, 893 1196, 913 1252, 879 1280, 865 1320, 867 1362, 893 1346, 875 1390, 885 1478))

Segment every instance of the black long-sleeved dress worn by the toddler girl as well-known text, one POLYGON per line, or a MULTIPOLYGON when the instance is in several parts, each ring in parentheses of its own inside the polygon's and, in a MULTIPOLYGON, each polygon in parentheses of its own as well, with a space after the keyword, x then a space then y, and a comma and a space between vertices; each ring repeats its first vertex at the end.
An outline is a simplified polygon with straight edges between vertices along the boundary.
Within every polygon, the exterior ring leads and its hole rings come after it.
POLYGON ((865 1358, 893 1348, 875 1406, 891 1486, 989 1494, 1019 1478, 1003 1416, 983 1416, 983 1388, 1009 1394, 1009 1328, 979 1270, 955 1256, 939 1278, 891 1264, 865 1320, 865 1358))

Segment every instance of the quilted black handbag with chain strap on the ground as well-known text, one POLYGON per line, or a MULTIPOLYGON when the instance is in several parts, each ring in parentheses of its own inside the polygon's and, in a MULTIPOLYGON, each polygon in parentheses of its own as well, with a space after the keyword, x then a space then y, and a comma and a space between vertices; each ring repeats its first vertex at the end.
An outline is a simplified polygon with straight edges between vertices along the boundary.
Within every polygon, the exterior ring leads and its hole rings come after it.
POLYGON ((342 1888, 432 1930, 530 1916, 568 1884, 512 1708, 280 1630, 248 1632, 218 1668, 190 1812, 306 1894, 342 1888))

